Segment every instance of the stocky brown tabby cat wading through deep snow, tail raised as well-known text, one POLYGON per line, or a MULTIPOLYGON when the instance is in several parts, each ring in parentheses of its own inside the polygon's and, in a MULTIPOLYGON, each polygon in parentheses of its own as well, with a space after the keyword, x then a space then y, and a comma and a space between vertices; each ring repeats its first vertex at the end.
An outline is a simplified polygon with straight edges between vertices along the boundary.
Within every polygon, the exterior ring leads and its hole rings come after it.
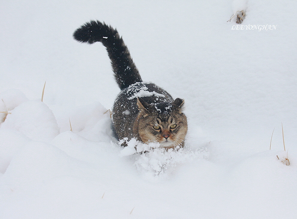
POLYGON ((89 44, 101 42, 107 49, 121 89, 112 111, 113 130, 119 140, 135 138, 143 143, 158 142, 164 148, 184 147, 187 134, 184 100, 174 100, 164 89, 142 81, 116 29, 90 21, 77 29, 73 37, 89 44))

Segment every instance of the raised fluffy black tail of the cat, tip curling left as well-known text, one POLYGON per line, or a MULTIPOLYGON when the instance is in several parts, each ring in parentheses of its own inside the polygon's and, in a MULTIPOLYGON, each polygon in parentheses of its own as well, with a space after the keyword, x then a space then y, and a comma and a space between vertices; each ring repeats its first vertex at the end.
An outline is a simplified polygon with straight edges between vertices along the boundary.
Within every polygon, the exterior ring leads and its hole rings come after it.
POLYGON ((114 76, 121 90, 136 82, 142 82, 130 52, 116 29, 100 21, 82 25, 73 33, 74 39, 84 43, 101 42, 107 49, 114 76))

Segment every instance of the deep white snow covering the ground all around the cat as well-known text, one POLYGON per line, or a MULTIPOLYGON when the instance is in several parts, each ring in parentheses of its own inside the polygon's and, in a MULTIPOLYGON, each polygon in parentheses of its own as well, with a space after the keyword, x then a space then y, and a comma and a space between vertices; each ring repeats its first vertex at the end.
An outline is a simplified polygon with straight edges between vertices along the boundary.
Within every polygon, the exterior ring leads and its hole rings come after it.
POLYGON ((297 2, 82 2, 1 1, 0 218, 296 218, 297 2), (185 99, 183 150, 116 144, 105 48, 72 38, 91 19, 185 99))

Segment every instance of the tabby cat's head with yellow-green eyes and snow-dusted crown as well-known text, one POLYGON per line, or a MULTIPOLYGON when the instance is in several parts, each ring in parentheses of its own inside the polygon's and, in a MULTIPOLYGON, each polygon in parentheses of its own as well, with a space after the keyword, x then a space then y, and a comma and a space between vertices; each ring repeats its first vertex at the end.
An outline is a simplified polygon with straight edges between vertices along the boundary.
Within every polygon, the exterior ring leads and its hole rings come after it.
POLYGON ((158 142, 165 148, 184 145, 187 134, 187 118, 182 112, 184 100, 176 98, 172 103, 147 104, 138 99, 137 106, 136 131, 143 143, 158 142))

